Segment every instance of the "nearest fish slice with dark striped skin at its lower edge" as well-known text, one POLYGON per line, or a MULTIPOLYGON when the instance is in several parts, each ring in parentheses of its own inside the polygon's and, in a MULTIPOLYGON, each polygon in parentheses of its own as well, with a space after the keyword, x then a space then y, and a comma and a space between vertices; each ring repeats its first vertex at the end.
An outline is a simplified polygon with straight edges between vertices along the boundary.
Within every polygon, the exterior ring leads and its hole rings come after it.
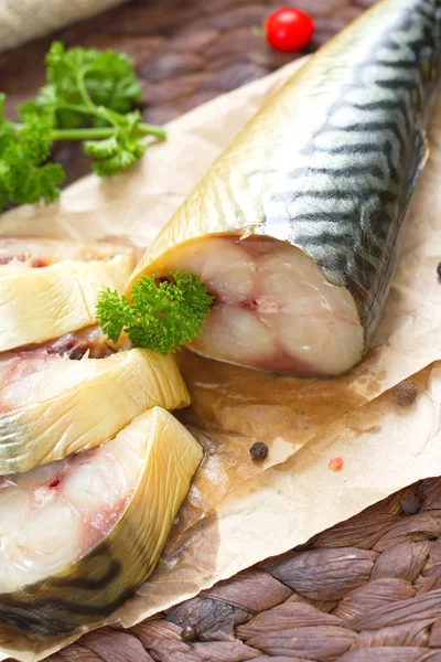
POLYGON ((202 448, 154 407, 98 449, 0 480, 0 618, 39 636, 110 615, 151 574, 202 448))

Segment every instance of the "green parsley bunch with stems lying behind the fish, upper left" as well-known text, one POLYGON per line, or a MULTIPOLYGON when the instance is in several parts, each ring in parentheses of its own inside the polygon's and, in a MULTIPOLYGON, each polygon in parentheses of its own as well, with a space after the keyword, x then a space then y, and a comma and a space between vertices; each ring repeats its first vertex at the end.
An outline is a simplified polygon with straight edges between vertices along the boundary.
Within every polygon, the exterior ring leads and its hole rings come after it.
POLYGON ((143 136, 165 139, 161 127, 141 122, 133 110, 141 87, 127 55, 79 46, 66 51, 54 42, 45 63, 47 84, 21 104, 18 122, 4 117, 0 94, 0 209, 58 197, 65 173, 50 162, 56 140, 83 140, 95 172, 110 177, 142 157, 143 136))

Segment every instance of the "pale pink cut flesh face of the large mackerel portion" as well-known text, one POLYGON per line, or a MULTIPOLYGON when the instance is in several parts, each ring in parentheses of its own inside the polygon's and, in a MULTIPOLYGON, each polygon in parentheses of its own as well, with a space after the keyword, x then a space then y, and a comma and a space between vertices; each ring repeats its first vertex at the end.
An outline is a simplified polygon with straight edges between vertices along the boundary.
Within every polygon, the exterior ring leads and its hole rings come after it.
POLYGON ((335 376, 364 354, 364 330, 344 285, 331 284, 304 252, 263 236, 186 242, 133 274, 196 274, 214 305, 190 345, 218 361, 301 376, 335 376))

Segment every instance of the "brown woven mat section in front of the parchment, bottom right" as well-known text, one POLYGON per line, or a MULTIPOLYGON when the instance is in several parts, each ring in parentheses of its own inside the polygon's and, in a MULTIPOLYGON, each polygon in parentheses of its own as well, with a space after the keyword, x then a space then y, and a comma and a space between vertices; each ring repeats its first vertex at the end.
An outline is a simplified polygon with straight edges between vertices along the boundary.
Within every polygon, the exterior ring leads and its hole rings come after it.
MULTIPOLYGON (((325 508, 325 505, 324 505, 325 508)), ((51 662, 441 662, 441 479, 51 662)))

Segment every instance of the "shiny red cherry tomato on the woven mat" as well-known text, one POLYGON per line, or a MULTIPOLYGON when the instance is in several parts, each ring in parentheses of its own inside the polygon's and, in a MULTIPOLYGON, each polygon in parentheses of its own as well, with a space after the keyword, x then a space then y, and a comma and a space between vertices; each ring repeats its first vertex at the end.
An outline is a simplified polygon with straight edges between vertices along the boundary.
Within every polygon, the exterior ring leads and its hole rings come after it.
POLYGON ((269 45, 281 53, 301 51, 311 41, 314 23, 309 14, 293 7, 273 11, 265 23, 269 45))

